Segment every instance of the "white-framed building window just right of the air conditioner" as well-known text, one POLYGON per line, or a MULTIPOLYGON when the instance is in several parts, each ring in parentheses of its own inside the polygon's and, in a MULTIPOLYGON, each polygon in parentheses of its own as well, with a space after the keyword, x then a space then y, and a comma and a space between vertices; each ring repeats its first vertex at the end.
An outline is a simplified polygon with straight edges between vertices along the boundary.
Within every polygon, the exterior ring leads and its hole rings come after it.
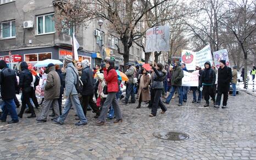
POLYGON ((54 33, 54 14, 41 15, 36 17, 37 34, 54 33))

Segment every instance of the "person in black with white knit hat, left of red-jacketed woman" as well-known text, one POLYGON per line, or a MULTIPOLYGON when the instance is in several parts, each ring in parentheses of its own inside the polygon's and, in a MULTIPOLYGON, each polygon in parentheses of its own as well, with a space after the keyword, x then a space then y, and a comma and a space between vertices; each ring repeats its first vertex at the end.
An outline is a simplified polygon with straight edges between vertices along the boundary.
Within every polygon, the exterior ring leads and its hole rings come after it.
POLYGON ((90 62, 88 60, 82 61, 82 76, 81 81, 83 83, 82 88, 82 109, 84 111, 84 114, 86 116, 87 112, 87 106, 90 104, 92 110, 96 112, 96 116, 94 118, 97 118, 100 115, 99 109, 96 105, 96 103, 93 102, 93 73, 92 69, 90 68, 90 62))

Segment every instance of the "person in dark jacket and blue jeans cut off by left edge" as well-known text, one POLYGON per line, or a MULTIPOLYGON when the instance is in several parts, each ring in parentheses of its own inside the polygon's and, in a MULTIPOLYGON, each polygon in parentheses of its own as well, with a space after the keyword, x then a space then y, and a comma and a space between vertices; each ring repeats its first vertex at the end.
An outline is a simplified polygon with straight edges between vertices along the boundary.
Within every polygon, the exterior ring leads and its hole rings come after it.
POLYGON ((1 96, 4 102, 1 120, 5 122, 9 113, 12 117, 12 121, 8 121, 8 123, 18 123, 19 119, 13 100, 15 90, 18 88, 16 74, 14 70, 7 67, 7 64, 3 60, 0 61, 0 69, 2 69, 0 74, 1 96))

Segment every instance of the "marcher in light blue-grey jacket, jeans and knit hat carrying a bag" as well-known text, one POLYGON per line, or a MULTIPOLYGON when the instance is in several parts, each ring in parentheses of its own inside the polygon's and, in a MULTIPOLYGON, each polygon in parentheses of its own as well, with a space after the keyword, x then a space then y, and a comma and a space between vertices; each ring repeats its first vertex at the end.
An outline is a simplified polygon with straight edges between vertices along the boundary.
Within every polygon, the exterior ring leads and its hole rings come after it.
POLYGON ((66 117, 69 114, 69 110, 71 106, 76 108, 77 116, 79 117, 79 122, 75 123, 76 126, 87 125, 87 118, 82 110, 82 106, 80 104, 78 98, 78 92, 80 87, 79 83, 79 75, 77 69, 72 63, 73 58, 70 55, 64 57, 64 67, 66 68, 66 77, 65 77, 65 97, 66 103, 64 106, 64 110, 62 115, 58 117, 58 119, 54 119, 53 121, 59 125, 63 125, 66 117))

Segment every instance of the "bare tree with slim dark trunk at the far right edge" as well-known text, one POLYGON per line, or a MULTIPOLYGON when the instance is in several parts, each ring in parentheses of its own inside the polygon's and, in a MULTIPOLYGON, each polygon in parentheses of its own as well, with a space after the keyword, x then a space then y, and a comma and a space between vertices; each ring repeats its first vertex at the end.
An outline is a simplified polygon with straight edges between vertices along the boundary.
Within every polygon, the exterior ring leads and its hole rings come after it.
MULTIPOLYGON (((229 1, 229 9, 221 21, 227 32, 234 35, 240 45, 244 57, 244 77, 247 77, 248 54, 255 44, 256 32, 256 3, 254 1, 229 1)), ((244 87, 246 82, 244 81, 244 87)))

